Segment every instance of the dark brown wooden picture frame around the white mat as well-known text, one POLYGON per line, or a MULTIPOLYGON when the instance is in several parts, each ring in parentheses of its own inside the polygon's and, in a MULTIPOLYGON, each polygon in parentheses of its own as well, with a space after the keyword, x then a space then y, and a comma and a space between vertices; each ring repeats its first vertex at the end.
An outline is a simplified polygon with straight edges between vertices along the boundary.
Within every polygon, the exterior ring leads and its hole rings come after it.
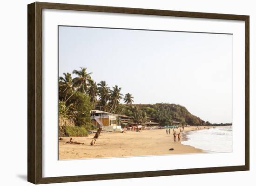
POLYGON ((27 180, 34 184, 249 170, 249 16, 35 2, 27 7, 27 180), (245 21, 245 165, 42 178, 42 9, 245 21))

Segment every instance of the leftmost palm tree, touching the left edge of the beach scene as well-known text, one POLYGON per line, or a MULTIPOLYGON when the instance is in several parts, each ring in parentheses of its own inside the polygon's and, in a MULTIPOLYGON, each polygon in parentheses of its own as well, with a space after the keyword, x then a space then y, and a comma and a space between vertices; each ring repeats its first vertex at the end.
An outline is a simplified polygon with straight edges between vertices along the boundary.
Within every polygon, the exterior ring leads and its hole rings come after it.
POLYGON ((72 94, 74 88, 73 88, 73 80, 70 73, 63 73, 64 77, 59 78, 59 87, 60 92, 63 92, 65 94, 65 97, 63 99, 64 102, 66 102, 66 98, 68 94, 72 94))

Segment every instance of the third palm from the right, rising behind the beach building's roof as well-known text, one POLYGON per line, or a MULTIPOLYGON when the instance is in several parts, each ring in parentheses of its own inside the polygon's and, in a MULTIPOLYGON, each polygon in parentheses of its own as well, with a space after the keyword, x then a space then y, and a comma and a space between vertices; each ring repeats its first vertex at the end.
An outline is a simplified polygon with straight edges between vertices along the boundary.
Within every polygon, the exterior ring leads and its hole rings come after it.
POLYGON ((101 110, 108 111, 108 100, 110 98, 110 89, 108 84, 105 81, 101 81, 97 85, 101 110))

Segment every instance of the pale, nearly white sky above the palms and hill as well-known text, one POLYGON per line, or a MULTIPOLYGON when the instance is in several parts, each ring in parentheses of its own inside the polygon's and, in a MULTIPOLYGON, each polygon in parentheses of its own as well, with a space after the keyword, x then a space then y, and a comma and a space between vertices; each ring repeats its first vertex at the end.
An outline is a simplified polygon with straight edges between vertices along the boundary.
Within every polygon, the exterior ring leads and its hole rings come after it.
POLYGON ((136 104, 175 103, 232 122, 232 46, 230 34, 60 26, 59 75, 87 67, 136 104))

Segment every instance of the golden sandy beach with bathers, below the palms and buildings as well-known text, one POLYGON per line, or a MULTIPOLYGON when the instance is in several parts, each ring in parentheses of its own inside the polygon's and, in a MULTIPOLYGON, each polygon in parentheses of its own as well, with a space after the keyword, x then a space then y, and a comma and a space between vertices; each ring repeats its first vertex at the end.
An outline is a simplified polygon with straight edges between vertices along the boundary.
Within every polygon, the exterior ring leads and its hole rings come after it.
MULTIPOLYGON (((194 129, 195 127, 185 127, 184 133, 194 129)), ((175 130, 176 133, 180 132, 180 129, 175 130)), ((63 137, 62 141, 59 140, 59 159, 203 153, 201 149, 174 142, 173 129, 170 135, 166 134, 166 129, 101 133, 96 145, 91 146, 93 137, 94 134, 89 134, 87 137, 73 138, 74 141, 85 142, 84 145, 66 144, 70 137, 63 137), (174 150, 170 151, 170 148, 174 150)), ((185 135, 182 138, 185 140, 185 135)))

